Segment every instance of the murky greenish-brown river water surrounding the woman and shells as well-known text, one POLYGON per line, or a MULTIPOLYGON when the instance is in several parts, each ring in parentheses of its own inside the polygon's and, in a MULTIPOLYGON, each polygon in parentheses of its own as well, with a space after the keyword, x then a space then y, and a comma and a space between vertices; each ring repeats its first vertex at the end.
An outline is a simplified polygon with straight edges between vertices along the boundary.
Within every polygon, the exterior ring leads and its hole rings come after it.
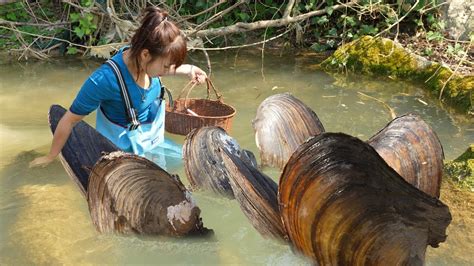
MULTIPOLYGON (((474 122, 450 115, 421 87, 389 79, 329 75, 313 68, 310 54, 266 55, 259 52, 213 53, 213 80, 225 102, 237 109, 232 136, 258 157, 251 121, 268 96, 291 92, 319 116, 326 131, 344 132, 367 140, 390 121, 384 105, 397 114, 416 112, 438 134, 446 159, 453 159, 474 142, 474 122)), ((51 104, 69 107, 78 88, 100 60, 62 59, 50 62, 0 62, 0 264, 308 264, 281 243, 263 239, 236 201, 205 192, 193 193, 212 239, 140 238, 98 234, 87 202, 56 161, 29 169, 45 154, 51 133, 51 104)), ((190 62, 203 66, 200 55, 190 62)), ((167 77, 175 96, 186 78, 167 77)), ((205 95, 196 87, 194 96, 205 95)), ((86 121, 94 124, 95 115, 86 121)), ((183 143, 184 137, 170 135, 183 143)), ((266 173, 278 180, 278 171, 266 173)), ((188 184, 184 171, 178 173, 188 184)), ((474 263, 474 193, 444 183, 441 199, 453 214, 447 242, 428 247, 428 265, 474 263)))

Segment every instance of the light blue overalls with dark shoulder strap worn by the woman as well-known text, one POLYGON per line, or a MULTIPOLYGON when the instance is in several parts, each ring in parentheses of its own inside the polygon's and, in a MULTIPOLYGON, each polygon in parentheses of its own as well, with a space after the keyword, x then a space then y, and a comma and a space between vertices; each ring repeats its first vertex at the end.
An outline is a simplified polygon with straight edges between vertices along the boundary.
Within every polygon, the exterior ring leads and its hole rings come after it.
POLYGON ((161 88, 160 97, 152 103, 150 109, 151 119, 149 119, 151 122, 140 123, 132 106, 132 101, 120 69, 111 59, 107 60, 106 64, 112 68, 117 77, 129 124, 127 127, 123 127, 112 122, 104 114, 102 108, 99 107, 96 118, 97 131, 111 140, 120 149, 147 157, 165 170, 167 165, 172 168, 179 167, 182 164, 181 145, 164 137, 165 88, 161 88))

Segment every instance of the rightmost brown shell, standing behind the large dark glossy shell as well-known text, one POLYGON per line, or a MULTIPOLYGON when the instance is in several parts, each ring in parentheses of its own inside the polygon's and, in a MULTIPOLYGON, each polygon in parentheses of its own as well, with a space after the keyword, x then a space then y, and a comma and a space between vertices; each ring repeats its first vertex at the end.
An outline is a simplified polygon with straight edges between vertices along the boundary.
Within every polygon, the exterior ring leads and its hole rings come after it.
POLYGON ((439 197, 443 147, 433 129, 419 116, 407 114, 395 118, 368 143, 406 181, 439 197))

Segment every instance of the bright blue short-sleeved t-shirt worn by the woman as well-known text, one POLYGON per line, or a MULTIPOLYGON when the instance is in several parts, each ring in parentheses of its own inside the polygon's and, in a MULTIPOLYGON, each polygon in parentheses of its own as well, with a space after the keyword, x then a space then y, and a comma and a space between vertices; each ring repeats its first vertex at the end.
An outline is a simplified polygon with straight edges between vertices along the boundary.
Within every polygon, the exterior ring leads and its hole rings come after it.
MULTIPOLYGON (((127 84, 132 105, 137 110, 140 122, 151 122, 150 107, 160 96, 161 82, 159 78, 151 78, 150 87, 143 89, 138 86, 123 61, 122 48, 112 59, 117 63, 127 84), (144 99, 144 100, 143 100, 144 99)), ((120 87, 112 68, 106 64, 100 66, 84 82, 69 110, 77 115, 88 115, 98 107, 105 115, 122 126, 129 124, 125 113, 125 103, 120 96, 120 87)))

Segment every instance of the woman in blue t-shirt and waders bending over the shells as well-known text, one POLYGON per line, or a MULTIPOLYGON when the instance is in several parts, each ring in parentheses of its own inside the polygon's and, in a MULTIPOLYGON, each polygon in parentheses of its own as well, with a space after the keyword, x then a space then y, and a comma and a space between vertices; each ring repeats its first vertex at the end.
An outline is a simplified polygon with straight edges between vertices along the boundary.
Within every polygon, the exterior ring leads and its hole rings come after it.
POLYGON ((168 14, 144 11, 130 47, 122 48, 85 81, 54 132, 48 155, 30 166, 47 165, 61 152, 72 128, 97 109, 97 130, 123 150, 143 155, 164 144, 164 88, 160 76, 184 74, 205 82, 200 68, 182 64, 186 40, 168 14))

